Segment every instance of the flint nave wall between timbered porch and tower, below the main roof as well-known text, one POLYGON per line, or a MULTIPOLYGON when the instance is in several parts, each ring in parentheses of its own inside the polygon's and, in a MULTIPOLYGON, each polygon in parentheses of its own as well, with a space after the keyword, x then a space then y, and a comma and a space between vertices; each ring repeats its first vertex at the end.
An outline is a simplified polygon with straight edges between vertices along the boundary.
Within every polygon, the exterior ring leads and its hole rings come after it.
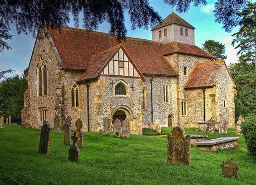
MULTIPOLYGON (((144 75, 146 82, 146 110, 143 111, 143 126, 151 122, 151 83, 152 76, 144 75)), ((153 78, 153 123, 168 126, 168 116, 173 115, 173 125, 177 125, 177 80, 176 77, 154 76, 153 78), (170 103, 164 103, 163 86, 169 86, 170 103)))

